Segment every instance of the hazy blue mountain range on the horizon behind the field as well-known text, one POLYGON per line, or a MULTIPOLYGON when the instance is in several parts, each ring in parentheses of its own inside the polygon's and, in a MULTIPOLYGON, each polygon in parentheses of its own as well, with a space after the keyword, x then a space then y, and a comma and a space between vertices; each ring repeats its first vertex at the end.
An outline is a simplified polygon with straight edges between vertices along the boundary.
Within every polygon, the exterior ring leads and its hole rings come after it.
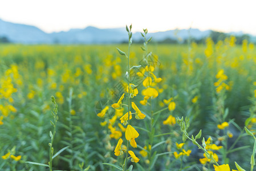
MULTIPOLYGON (((155 41, 165 39, 185 40, 191 36, 194 39, 201 39, 209 36, 211 30, 201 31, 197 28, 189 30, 168 30, 161 32, 149 32, 155 41)), ((242 35, 242 32, 232 32, 232 34, 242 35)), ((128 39, 125 28, 96 28, 88 26, 84 29, 75 28, 69 31, 46 33, 38 27, 6 22, 0 19, 0 37, 6 37, 10 42, 23 44, 107 44, 121 43, 128 39)), ((133 40, 142 39, 140 32, 134 32, 133 40)))

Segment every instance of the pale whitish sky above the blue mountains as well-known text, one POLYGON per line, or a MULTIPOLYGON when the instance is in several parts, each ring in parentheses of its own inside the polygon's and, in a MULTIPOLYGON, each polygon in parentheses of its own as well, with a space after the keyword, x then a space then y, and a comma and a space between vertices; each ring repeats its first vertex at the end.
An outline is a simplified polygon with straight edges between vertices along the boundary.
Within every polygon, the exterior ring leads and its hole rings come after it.
POLYGON ((256 1, 225 0, 1 0, 0 18, 46 32, 125 27, 149 32, 176 28, 243 31, 256 35, 256 1))

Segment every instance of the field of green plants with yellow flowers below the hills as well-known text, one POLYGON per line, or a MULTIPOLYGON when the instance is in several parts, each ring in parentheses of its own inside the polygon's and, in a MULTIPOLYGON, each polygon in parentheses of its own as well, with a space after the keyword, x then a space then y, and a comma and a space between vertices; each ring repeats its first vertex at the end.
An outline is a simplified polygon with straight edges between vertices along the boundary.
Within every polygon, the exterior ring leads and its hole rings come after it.
POLYGON ((149 42, 1 44, 0 170, 253 170, 254 44, 149 42))

